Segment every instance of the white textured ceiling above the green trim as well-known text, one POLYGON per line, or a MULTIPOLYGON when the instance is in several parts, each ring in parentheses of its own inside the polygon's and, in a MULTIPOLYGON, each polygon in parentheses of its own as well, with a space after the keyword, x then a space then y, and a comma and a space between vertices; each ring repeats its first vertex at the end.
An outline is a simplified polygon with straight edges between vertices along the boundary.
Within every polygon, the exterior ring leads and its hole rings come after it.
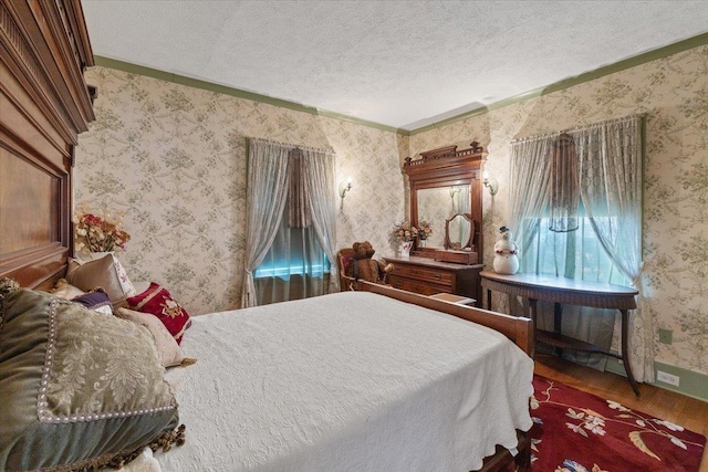
POLYGON ((415 129, 708 32, 708 1, 83 0, 96 55, 415 129))

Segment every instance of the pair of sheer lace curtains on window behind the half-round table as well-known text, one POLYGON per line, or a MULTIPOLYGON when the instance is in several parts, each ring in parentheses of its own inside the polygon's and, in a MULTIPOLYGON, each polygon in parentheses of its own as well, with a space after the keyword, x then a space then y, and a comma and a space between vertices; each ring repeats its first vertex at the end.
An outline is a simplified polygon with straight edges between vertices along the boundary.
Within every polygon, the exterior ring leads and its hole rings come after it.
MULTIPOLYGON (((644 291, 641 284, 642 271, 642 117, 631 116, 603 122, 582 129, 568 132, 572 137, 572 154, 579 175, 579 211, 583 211, 584 220, 602 248, 601 256, 606 254, 622 275, 634 285, 639 295, 637 308, 632 312, 629 327, 629 359, 635 377, 639 381, 654 380, 654 326, 647 311, 644 310, 644 291)), ((539 237, 541 223, 553 213, 553 161, 559 153, 554 147, 559 143, 559 134, 528 138, 511 145, 511 195, 510 227, 521 248, 522 270, 541 273, 544 269, 539 237)), ((568 156, 568 153, 566 153, 568 156)), ((573 170, 574 171, 574 170, 573 170)), ((558 189, 558 187, 556 187, 558 189)), ((558 209, 556 209, 558 210, 558 209)), ((558 213, 556 213, 558 214, 558 213)), ((570 213, 565 213, 569 216, 570 213)), ((580 224, 582 231, 587 231, 580 224)), ((576 231, 577 232, 577 231, 576 231)), ((559 235, 562 240, 553 240, 550 245, 555 250, 558 259, 551 263, 555 275, 573 276, 565 265, 568 245, 575 244, 580 238, 573 232, 559 235), (563 248, 559 248, 562 245, 563 248), (558 256, 562 254, 560 258, 558 256)), ((555 237, 553 237, 555 238, 555 237)), ((583 241, 584 239, 581 239, 583 241)), ((549 241, 545 241, 549 243, 549 241)), ((589 252, 592 252, 590 250, 589 252)), ((582 268, 581 268, 582 269, 582 268)), ((549 271, 546 265, 546 271, 549 271)), ((571 272, 577 274, 577 268, 571 272)), ((581 274, 593 274, 594 280, 616 283, 612 270, 597 268, 580 271, 581 274)), ((577 276, 577 275, 575 275, 577 276)), ((581 275, 582 276, 582 275, 581 275)), ((610 316, 610 315, 607 315, 610 316)), ((591 316, 592 317, 592 316, 591 316)), ((586 321, 591 317, 585 316, 586 321)), ((569 317, 573 318, 573 316, 569 317)), ((582 322, 582 315, 576 319, 582 322)), ((566 328, 564 316, 563 331, 571 333, 584 331, 585 337, 602 337, 610 319, 605 317, 600 326, 587 328, 570 326, 566 328)), ((574 334, 570 334, 574 335, 574 334)), ((576 335, 575 335, 576 336, 576 335)), ((606 335, 605 335, 606 337, 606 335)))

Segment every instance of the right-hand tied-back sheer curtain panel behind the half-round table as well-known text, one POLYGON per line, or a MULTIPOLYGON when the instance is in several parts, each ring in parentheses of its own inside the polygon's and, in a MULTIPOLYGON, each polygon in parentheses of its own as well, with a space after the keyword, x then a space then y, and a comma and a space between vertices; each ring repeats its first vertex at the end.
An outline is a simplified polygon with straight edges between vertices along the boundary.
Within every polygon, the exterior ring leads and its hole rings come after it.
POLYGON ((629 361, 639 381, 654 381, 654 323, 642 286, 642 117, 604 122, 571 133, 580 161, 581 199, 615 266, 637 289, 629 361))

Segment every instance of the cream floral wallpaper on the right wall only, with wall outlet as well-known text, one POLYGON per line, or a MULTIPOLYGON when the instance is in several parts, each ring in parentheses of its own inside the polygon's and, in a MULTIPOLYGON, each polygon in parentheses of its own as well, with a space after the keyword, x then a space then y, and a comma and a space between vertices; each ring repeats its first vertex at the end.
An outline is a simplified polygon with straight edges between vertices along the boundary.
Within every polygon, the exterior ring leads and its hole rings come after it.
POLYGON ((410 137, 420 153, 473 139, 489 150, 499 193, 485 195, 485 255, 507 223, 509 143, 539 134, 646 114, 644 280, 657 328, 656 360, 708 374, 708 46, 494 109, 410 137))

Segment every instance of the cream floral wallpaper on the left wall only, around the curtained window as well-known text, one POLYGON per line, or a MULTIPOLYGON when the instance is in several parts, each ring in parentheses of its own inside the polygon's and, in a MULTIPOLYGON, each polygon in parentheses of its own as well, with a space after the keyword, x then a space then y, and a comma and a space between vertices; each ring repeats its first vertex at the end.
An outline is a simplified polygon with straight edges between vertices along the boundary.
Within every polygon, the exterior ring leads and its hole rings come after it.
POLYGON ((337 213, 337 248, 368 240, 392 253, 405 217, 395 133, 96 66, 96 120, 80 136, 74 204, 124 213, 117 253, 133 282, 164 284, 190 314, 240 306, 247 138, 334 150, 353 188, 337 213))

